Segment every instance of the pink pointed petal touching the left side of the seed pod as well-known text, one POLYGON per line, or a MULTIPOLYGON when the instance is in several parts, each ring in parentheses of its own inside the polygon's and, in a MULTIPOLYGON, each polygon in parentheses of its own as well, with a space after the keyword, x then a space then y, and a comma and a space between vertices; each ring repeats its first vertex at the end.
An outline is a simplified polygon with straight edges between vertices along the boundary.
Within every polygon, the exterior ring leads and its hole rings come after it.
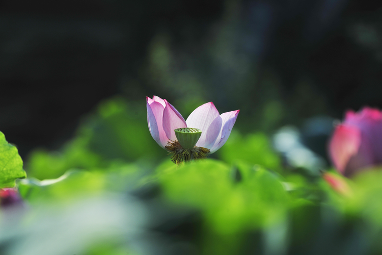
POLYGON ((182 115, 165 99, 166 107, 163 112, 163 130, 165 130, 166 136, 172 140, 176 140, 175 129, 181 127, 187 127, 186 122, 182 115))

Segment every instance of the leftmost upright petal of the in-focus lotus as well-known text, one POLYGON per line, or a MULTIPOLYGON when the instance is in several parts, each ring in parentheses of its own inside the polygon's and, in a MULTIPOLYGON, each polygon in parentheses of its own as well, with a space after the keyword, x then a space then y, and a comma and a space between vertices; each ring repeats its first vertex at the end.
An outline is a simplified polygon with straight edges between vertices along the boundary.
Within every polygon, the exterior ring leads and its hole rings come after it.
POLYGON ((147 108, 147 122, 149 125, 149 130, 151 136, 159 144, 160 147, 165 148, 168 142, 165 131, 163 130, 162 119, 163 111, 165 108, 156 101, 151 101, 150 98, 146 98, 146 108, 147 108))

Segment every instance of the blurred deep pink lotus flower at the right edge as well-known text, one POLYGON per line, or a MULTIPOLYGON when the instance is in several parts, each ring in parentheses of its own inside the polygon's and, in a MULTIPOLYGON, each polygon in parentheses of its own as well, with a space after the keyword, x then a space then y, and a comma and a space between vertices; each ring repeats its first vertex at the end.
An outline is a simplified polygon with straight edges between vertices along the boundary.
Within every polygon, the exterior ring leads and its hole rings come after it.
POLYGON ((382 112, 365 107, 347 111, 329 143, 330 157, 345 176, 382 164, 382 112))

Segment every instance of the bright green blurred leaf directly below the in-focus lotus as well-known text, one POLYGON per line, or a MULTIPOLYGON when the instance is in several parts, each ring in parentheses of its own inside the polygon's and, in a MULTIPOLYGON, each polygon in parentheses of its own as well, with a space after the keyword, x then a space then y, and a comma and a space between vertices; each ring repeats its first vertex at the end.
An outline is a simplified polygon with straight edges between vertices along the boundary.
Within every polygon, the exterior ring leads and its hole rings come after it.
POLYGON ((288 196, 280 178, 260 166, 206 160, 158 175, 167 198, 203 212, 204 254, 233 254, 244 233, 285 220, 288 196))

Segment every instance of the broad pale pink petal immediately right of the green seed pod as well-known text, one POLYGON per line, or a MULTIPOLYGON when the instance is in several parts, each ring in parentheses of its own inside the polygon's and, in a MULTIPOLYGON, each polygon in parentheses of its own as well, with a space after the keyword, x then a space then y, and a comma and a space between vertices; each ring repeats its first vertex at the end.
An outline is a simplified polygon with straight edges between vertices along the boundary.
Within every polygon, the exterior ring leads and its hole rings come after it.
POLYGON ((206 147, 207 144, 210 145, 211 143, 213 145, 222 126, 222 121, 216 119, 219 116, 219 111, 216 110, 212 102, 201 105, 188 116, 186 120, 187 126, 202 131, 202 135, 196 143, 196 146, 206 147), (214 125, 209 129, 215 119, 214 125))

